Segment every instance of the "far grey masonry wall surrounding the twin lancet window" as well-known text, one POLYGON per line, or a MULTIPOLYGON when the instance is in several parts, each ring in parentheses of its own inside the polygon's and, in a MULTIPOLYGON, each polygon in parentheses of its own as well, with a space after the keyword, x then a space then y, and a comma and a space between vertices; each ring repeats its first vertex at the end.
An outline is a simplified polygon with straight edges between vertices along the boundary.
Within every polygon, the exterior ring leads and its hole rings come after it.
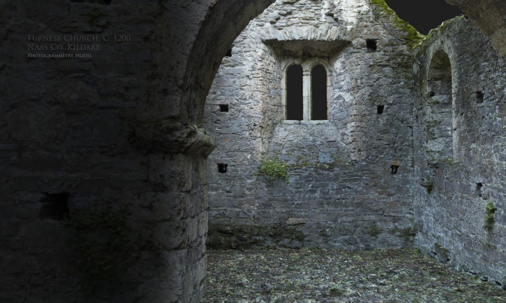
POLYGON ((412 245, 412 57, 405 32, 382 12, 363 2, 277 1, 234 41, 203 123, 217 140, 208 246, 412 245), (376 52, 366 39, 377 40, 376 52), (328 70, 329 119, 284 121, 284 69, 307 61, 328 70), (258 175, 267 158, 289 165, 286 182, 258 175))

